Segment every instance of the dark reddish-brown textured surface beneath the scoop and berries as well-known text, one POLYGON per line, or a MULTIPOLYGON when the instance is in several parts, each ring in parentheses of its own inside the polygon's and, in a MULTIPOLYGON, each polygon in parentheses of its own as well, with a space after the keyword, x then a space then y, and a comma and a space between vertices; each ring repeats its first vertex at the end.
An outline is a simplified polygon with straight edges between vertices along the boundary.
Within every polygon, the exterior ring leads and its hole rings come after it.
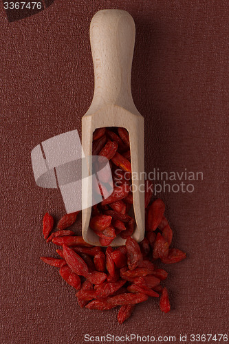
POLYGON ((227 332, 228 1, 55 0, 13 23, 0 8, 1 343, 227 332), (94 89, 89 22, 102 8, 135 20, 132 89, 145 118, 146 171, 204 173, 194 193, 160 194, 174 246, 188 255, 167 268, 171 313, 151 299, 123 325, 117 310, 79 309, 73 288, 40 261, 55 255, 41 235, 43 214, 58 219, 64 207, 58 191, 36 186, 30 162, 36 144, 80 131, 94 89))

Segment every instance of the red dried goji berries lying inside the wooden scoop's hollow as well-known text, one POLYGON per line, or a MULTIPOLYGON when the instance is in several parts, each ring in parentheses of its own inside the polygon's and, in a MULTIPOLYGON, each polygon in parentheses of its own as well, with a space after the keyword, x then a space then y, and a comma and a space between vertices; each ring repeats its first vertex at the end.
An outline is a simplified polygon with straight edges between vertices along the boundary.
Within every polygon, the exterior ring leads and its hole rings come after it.
MULTIPOLYGON (((102 246, 109 246, 118 235, 127 239, 133 234, 135 219, 129 215, 133 208, 131 192, 131 154, 129 133, 124 128, 98 128, 94 131, 92 154, 109 160, 112 181, 105 173, 101 176, 94 191, 103 196, 100 204, 92 207, 90 228, 98 235, 102 246), (110 183, 113 192, 109 195, 110 183), (105 197, 109 195, 109 197, 105 197)), ((152 184, 146 181, 145 207, 148 206, 153 191, 152 184)), ((132 211, 133 213, 133 211, 132 211)))

